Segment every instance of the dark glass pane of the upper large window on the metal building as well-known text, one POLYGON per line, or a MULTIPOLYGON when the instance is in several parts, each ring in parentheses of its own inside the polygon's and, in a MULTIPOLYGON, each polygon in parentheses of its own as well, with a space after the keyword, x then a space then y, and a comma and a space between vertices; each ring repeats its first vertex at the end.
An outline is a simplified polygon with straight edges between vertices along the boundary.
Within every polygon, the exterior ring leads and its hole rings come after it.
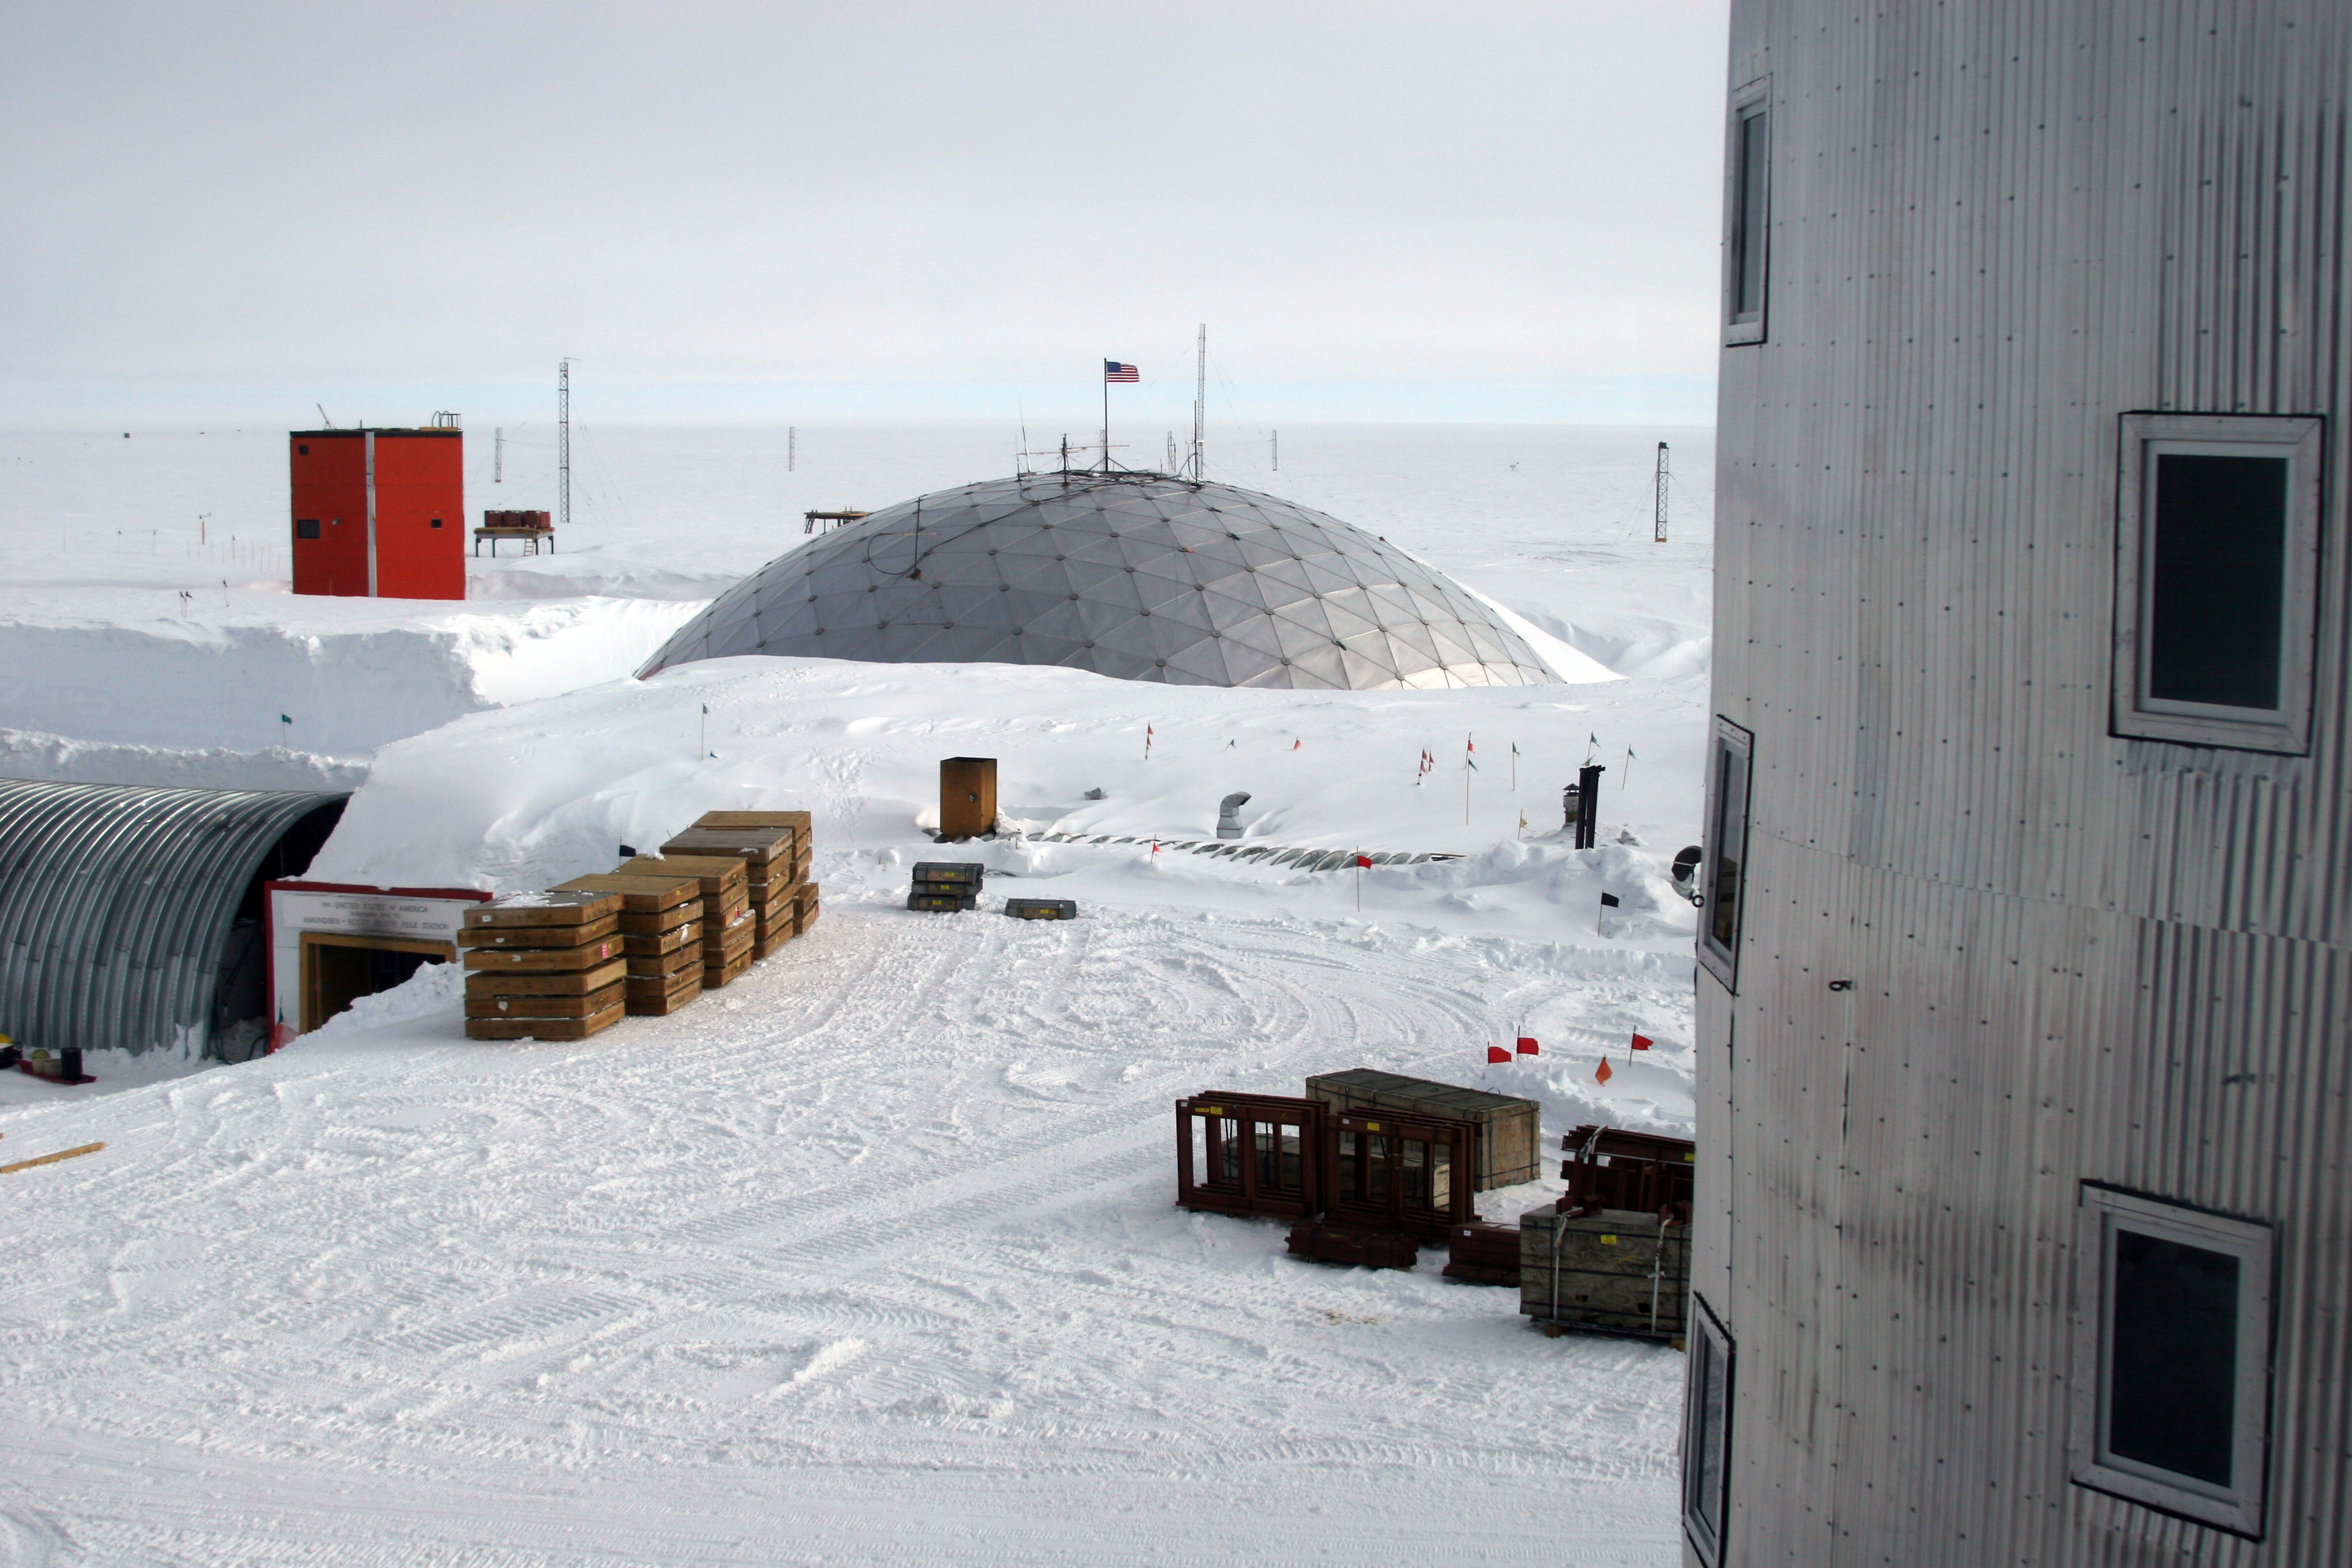
POLYGON ((2157 454, 2147 696, 2279 708, 2286 458, 2157 454))

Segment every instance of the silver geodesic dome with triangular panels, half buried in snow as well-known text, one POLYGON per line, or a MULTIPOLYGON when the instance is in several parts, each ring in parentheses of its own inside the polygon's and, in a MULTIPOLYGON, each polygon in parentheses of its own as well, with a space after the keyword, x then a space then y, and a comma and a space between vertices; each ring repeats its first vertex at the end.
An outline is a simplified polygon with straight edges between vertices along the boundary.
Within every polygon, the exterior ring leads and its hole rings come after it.
POLYGON ((771 559, 640 677, 731 654, 1070 665, 1178 686, 1534 686, 1477 597, 1305 505, 1150 473, 920 496, 771 559))

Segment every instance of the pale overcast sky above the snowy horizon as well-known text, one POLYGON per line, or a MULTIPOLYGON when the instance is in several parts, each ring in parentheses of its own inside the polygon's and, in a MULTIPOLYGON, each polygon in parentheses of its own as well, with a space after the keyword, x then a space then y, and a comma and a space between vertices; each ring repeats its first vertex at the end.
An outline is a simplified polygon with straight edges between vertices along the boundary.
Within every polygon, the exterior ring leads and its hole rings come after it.
POLYGON ((0 423, 1705 416, 1722 9, 9 0, 0 423))

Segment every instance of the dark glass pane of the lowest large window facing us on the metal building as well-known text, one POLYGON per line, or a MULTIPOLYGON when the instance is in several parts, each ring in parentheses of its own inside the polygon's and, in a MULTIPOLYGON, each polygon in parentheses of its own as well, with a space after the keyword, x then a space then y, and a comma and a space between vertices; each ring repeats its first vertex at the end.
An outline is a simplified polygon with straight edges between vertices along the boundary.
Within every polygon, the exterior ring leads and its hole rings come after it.
POLYGON ((2237 1425, 2237 1258, 2114 1232, 2107 1450, 2230 1486, 2237 1425))

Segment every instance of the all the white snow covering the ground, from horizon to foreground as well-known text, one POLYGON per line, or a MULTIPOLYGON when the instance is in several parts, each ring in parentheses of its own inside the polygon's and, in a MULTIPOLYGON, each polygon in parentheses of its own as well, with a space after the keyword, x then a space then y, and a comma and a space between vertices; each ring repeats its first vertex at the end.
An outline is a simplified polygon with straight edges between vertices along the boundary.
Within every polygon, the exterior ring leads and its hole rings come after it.
MULTIPOLYGON (((981 435, 802 430, 818 473, 783 477, 750 433, 621 433, 600 473, 649 522, 614 503, 567 555, 482 562, 466 607, 240 585, 172 625, 160 567, 16 574, 0 769, 365 771, 313 877, 501 891, 706 809, 807 806, 826 912, 590 1041, 470 1044, 428 966, 263 1060, 94 1053, 99 1084, 9 1084, 0 1164, 108 1147, 0 1178, 0 1561, 1679 1561, 1679 1354, 1545 1340, 1439 1253, 1298 1265, 1279 1225, 1178 1213, 1169 1107, 1369 1065, 1534 1095, 1548 1140, 1686 1126, 1693 910, 1663 863, 1698 823, 1703 498, 1649 541, 1639 433, 1284 430, 1282 475, 1218 475, 1392 534, 1616 675, 1583 684, 607 663, 795 543, 800 508, 1009 468, 981 435), (85 661, 122 701, 16 696, 89 686, 85 661), (275 691, 306 689, 353 712, 273 733, 275 691), (1602 844, 1576 851, 1557 788, 1588 752, 1602 844), (1000 759, 1025 837, 929 842, 948 755, 1000 759), (1230 790, 1244 844, 1461 858, 1359 884, 1174 849, 1230 790), (1077 830, 1145 842, 1040 842, 1077 830), (1082 919, 903 910, 943 856, 990 865, 985 905, 1082 919), (1632 1030, 1658 1048, 1628 1056, 1632 1030), (1510 1032, 1543 1056, 1489 1067, 1510 1032)), ((127 447, 238 468, 207 440, 127 447)), ((247 447, 278 484, 280 440, 247 447)), ((59 475, 111 480, 89 529, 193 501, 96 440, 0 454, 12 564, 59 475)))

